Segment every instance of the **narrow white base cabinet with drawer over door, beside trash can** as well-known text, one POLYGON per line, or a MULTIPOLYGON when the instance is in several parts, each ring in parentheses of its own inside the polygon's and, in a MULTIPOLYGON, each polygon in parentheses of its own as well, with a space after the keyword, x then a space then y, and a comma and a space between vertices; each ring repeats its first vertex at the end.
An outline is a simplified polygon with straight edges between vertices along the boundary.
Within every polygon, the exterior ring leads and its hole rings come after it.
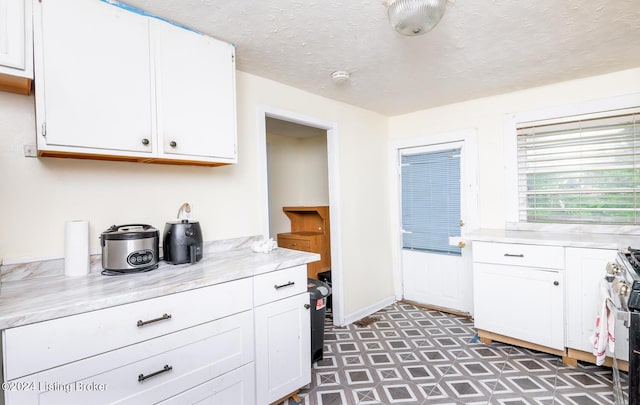
POLYGON ((306 266, 254 280, 256 404, 273 403, 311 382, 306 266))

